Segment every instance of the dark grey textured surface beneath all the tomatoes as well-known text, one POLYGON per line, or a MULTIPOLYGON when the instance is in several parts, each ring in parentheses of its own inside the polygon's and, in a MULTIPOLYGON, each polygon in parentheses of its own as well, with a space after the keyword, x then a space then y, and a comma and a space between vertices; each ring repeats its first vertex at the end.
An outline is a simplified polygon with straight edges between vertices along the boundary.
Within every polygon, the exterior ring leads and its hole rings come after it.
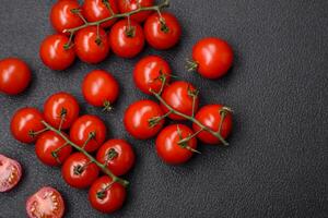
MULTIPOLYGON (((327 0, 173 0, 171 12, 184 35, 169 51, 147 48, 133 60, 110 56, 98 65, 77 61, 54 72, 38 58, 39 44, 52 33, 48 13, 55 1, 1 0, 0 58, 20 57, 33 70, 24 95, 0 95, 0 153, 20 160, 24 177, 0 194, 0 217, 24 217, 25 199, 44 185, 58 189, 67 217, 102 217, 87 192, 69 187, 60 170, 36 159, 33 145, 15 142, 9 123, 24 106, 42 108, 50 94, 78 97, 82 112, 101 116, 108 137, 127 138, 138 161, 126 178, 131 186, 125 207, 110 217, 328 217, 328 1, 327 0), (185 59, 204 36, 220 36, 235 50, 232 72, 220 81, 187 73, 185 59), (231 147, 200 146, 187 165, 160 161, 154 141, 136 141, 121 122, 125 108, 147 98, 132 85, 134 63, 149 53, 169 61, 174 72, 195 83, 202 104, 220 102, 235 111, 231 147), (118 78, 115 111, 87 106, 80 92, 83 76, 106 69, 118 78)), ((105 217, 106 215, 103 215, 105 217)))

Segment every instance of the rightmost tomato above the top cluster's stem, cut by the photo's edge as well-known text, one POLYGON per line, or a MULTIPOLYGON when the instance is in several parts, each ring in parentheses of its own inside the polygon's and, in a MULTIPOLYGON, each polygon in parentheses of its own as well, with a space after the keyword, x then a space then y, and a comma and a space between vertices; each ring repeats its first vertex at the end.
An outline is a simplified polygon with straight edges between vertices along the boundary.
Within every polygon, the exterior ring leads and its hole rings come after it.
MULTIPOLYGON (((154 0, 119 0, 118 1, 118 9, 120 13, 127 13, 130 11, 134 11, 139 9, 139 7, 152 7, 154 5, 154 0)), ((131 15, 131 20, 136 22, 143 22, 149 15, 151 11, 142 11, 131 15)))

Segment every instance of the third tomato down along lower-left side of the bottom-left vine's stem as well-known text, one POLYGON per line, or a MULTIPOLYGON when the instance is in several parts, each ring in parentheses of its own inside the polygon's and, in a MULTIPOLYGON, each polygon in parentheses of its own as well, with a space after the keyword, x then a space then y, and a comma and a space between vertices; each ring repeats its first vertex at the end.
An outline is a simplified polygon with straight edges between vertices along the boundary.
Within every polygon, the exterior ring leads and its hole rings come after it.
POLYGON ((74 153, 63 162, 61 174, 72 187, 85 189, 97 179, 99 168, 82 153, 74 153))

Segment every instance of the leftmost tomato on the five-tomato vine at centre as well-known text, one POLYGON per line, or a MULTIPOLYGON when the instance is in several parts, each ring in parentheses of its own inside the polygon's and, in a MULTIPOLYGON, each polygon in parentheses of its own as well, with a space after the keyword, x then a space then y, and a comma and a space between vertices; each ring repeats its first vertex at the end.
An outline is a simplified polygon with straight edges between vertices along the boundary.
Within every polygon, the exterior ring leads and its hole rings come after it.
POLYGON ((147 140, 155 136, 164 125, 164 119, 152 125, 152 120, 162 117, 161 107, 152 100, 139 100, 128 107, 124 122, 126 130, 136 138, 147 140))

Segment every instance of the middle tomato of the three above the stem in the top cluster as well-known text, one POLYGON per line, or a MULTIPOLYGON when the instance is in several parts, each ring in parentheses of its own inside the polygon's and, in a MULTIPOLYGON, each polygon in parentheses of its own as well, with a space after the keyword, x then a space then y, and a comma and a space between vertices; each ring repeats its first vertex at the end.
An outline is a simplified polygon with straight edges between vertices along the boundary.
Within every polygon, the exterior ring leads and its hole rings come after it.
MULTIPOLYGON (((116 0, 107 0, 107 2, 109 3, 108 5, 110 5, 112 11, 117 14, 118 8, 116 0)), ((84 0, 82 5, 83 15, 89 22, 96 22, 113 15, 110 9, 107 8, 107 5, 104 3, 104 0, 84 0)), ((112 26, 115 22, 116 19, 113 19, 102 23, 101 26, 106 28, 112 26)))

